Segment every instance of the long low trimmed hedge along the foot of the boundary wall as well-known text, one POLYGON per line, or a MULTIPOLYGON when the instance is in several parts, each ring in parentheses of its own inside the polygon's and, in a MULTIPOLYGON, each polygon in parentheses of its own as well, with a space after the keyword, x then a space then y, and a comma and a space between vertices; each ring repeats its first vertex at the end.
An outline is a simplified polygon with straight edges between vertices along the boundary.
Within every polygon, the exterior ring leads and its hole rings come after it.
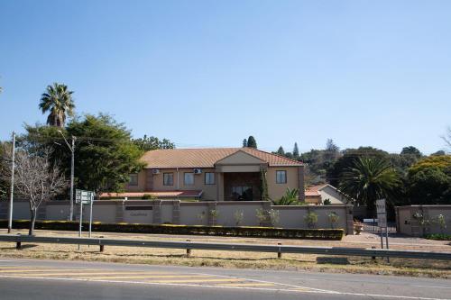
MULTIPOLYGON (((13 228, 28 229, 30 221, 14 220, 13 228)), ((88 223, 83 223, 83 230, 87 231, 88 223)), ((34 228, 52 231, 78 231, 76 221, 36 221, 34 228)), ((7 227, 6 220, 0 220, 0 228, 7 227)), ((308 239, 340 241, 345 234, 343 229, 294 229, 273 227, 225 227, 202 225, 173 225, 173 224, 137 224, 137 223, 92 223, 93 232, 126 232, 126 233, 156 233, 183 235, 218 235, 261 237, 278 239, 308 239)))

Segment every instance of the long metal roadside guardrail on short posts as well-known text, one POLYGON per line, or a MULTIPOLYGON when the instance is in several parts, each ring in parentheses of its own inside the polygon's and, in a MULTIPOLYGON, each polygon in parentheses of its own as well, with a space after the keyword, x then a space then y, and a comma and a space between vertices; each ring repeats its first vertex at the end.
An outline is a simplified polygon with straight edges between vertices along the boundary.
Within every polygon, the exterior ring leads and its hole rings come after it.
POLYGON ((228 251, 254 251, 254 252, 274 252, 278 253, 303 253, 303 254, 327 254, 343 256, 366 256, 366 257, 387 257, 404 259, 444 259, 451 260, 451 252, 427 252, 416 250, 387 250, 387 249, 364 249, 364 248, 344 248, 344 247, 310 247, 310 246, 284 246, 262 245, 262 244, 236 244, 236 243, 210 243, 192 241, 139 241, 139 240, 113 240, 103 238, 66 238, 66 237, 43 237, 30 235, 10 235, 1 234, 0 241, 11 241, 16 243, 19 250, 23 242, 31 243, 59 243, 73 245, 97 245, 100 251, 105 246, 126 246, 126 247, 147 247, 147 248, 168 248, 186 249, 187 256, 191 250, 228 250, 228 251))

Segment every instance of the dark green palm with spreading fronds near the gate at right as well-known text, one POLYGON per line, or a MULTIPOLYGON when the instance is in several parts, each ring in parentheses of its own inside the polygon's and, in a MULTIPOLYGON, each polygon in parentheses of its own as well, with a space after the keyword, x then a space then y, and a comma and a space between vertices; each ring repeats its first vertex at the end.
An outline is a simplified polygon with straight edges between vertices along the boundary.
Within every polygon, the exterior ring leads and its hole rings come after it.
POLYGON ((375 201, 393 195, 399 184, 400 177, 389 161, 373 157, 354 159, 354 165, 341 174, 338 187, 373 212, 375 201))

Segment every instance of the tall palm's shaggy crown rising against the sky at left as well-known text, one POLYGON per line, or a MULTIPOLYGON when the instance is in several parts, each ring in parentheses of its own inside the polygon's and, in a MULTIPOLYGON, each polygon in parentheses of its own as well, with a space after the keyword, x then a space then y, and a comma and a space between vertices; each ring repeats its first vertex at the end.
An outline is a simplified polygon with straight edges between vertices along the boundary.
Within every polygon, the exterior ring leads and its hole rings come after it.
POLYGON ((54 83, 53 86, 47 86, 46 92, 41 95, 41 103, 39 104, 42 114, 51 112, 47 117, 47 124, 64 127, 66 116, 74 114, 73 93, 73 91, 69 91, 66 85, 54 83))

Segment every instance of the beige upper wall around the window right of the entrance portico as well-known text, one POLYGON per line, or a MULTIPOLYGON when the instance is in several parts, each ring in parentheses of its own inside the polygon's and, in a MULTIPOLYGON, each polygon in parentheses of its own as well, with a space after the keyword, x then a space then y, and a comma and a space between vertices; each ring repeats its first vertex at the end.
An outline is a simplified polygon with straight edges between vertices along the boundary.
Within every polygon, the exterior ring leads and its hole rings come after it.
MULTIPOLYGON (((272 200, 279 199, 285 194, 287 187, 299 188, 298 167, 269 167, 267 173, 268 194, 272 200), (287 171, 287 183, 276 183, 276 171, 287 171)), ((301 187, 303 188, 303 186, 301 187)))

